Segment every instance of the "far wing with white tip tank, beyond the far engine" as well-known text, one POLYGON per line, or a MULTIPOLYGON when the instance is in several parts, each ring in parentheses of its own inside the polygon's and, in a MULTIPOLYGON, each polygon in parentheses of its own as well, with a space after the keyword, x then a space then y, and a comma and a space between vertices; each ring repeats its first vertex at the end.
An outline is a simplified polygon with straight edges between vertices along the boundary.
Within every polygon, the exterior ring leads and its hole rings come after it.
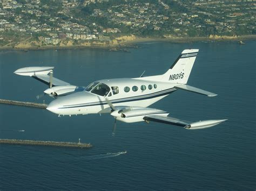
MULTIPOLYGON (((39 80, 48 86, 50 86, 51 76, 49 75, 52 72, 54 67, 26 67, 17 69, 14 73, 23 76, 31 76, 36 80, 39 80)), ((69 86, 70 83, 59 80, 55 77, 52 77, 52 86, 69 86)))

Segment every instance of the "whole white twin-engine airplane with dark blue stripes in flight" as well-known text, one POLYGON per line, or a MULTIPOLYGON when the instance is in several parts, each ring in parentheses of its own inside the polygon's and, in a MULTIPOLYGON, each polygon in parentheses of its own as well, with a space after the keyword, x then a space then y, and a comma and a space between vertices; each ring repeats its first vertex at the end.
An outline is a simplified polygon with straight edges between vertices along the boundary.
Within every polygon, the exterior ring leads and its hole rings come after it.
POLYGON ((125 123, 159 122, 181 126, 185 129, 204 129, 227 119, 186 122, 169 116, 169 112, 148 108, 176 90, 186 90, 207 95, 217 94, 187 85, 199 49, 184 49, 171 67, 161 75, 137 78, 105 79, 92 82, 87 87, 73 86, 53 77, 54 67, 25 67, 14 73, 31 76, 49 86, 44 91, 55 98, 47 110, 57 115, 110 114, 116 121, 125 123))

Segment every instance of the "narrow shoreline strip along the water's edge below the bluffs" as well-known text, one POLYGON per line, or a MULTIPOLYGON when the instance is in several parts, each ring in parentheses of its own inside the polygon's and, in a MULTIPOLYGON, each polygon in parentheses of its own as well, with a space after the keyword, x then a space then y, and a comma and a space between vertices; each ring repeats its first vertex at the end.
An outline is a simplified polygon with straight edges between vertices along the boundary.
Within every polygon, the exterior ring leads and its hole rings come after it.
POLYGON ((129 52, 126 48, 137 48, 136 44, 140 43, 150 43, 150 42, 169 42, 169 43, 196 43, 201 41, 206 42, 235 42, 235 41, 243 41, 243 40, 256 40, 256 35, 248 35, 248 36, 238 36, 238 37, 171 37, 171 38, 149 38, 149 37, 136 37, 132 40, 123 40, 118 44, 110 44, 110 45, 69 45, 69 46, 29 46, 29 47, 15 47, 15 46, 1 46, 0 51, 41 51, 48 49, 84 49, 84 48, 96 48, 96 49, 106 49, 108 51, 115 51, 113 49, 117 49, 115 52, 129 52))

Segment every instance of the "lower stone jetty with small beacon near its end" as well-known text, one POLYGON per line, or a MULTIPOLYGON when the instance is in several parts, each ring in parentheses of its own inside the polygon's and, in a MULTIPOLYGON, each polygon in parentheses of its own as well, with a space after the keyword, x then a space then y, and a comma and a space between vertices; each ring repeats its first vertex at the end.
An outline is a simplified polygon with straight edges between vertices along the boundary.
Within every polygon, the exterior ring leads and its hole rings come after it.
POLYGON ((8 145, 32 145, 32 146, 56 146, 56 147, 72 147, 72 148, 91 148, 90 143, 73 142, 52 142, 44 140, 23 140, 23 139, 0 139, 0 144, 8 145))

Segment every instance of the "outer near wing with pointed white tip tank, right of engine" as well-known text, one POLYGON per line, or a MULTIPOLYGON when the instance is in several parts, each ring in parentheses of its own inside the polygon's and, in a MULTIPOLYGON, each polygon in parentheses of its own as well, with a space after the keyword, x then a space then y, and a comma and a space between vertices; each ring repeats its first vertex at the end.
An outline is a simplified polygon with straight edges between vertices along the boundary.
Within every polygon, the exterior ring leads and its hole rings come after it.
POLYGON ((168 116, 159 116, 159 115, 148 115, 143 117, 143 119, 145 121, 182 126, 185 129, 205 129, 205 128, 210 128, 211 126, 218 125, 222 122, 227 121, 227 119, 216 119, 216 120, 207 120, 207 121, 199 121, 199 122, 191 123, 187 121, 182 121, 177 118, 168 117, 168 116))

